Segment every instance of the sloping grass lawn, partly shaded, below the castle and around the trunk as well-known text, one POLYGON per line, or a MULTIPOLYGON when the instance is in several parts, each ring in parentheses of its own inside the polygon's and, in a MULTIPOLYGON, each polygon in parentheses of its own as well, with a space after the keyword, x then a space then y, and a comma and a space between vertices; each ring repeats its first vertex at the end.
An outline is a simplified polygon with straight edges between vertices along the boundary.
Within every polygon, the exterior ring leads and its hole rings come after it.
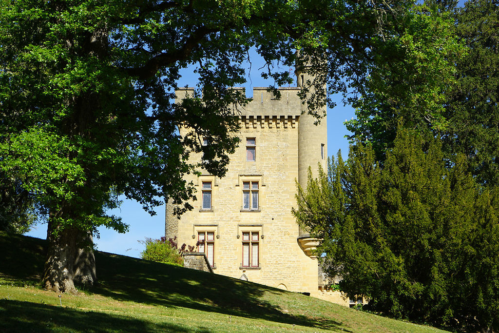
POLYGON ((44 246, 44 240, 0 233, 0 332, 442 332, 104 252, 96 253, 99 285, 59 302, 58 294, 38 287, 44 246))

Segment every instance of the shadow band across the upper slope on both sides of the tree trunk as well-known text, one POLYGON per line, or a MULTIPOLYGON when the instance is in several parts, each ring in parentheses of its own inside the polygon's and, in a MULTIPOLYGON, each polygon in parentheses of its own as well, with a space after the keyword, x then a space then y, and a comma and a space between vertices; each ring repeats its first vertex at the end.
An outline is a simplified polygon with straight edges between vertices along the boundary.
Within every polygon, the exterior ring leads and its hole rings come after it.
MULTIPOLYGON (((3 256, 0 277, 21 287, 39 284, 44 249, 44 240, 0 233, 3 256)), ((340 323, 326 318, 315 320, 283 313, 278 306, 278 297, 284 292, 275 288, 104 252, 97 252, 95 257, 99 284, 83 289, 115 300, 191 308, 324 330, 345 329, 340 323), (264 300, 265 293, 275 302, 264 300)), ((32 303, 28 304, 31 307, 32 303)))

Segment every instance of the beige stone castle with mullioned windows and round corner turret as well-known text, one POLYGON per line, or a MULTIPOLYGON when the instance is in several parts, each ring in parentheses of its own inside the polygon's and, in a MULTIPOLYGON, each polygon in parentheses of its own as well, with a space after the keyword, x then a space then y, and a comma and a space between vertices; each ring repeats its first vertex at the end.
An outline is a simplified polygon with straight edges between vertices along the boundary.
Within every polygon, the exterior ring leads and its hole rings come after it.
MULTIPOLYGON (((216 274, 348 305, 327 288, 311 251, 317 240, 303 233, 291 214, 295 180, 305 188, 308 167, 327 164, 326 119, 314 125, 297 96, 306 79, 297 72, 298 86, 279 88, 279 100, 266 88, 253 89, 250 103, 239 107, 241 143, 226 176, 203 170, 190 175, 186 180, 198 188, 198 200, 180 220, 167 206, 165 235, 176 236, 179 244, 197 244, 216 274)), ((192 92, 177 89, 177 102, 192 92)), ((179 131, 186 135, 190 129, 179 131)))

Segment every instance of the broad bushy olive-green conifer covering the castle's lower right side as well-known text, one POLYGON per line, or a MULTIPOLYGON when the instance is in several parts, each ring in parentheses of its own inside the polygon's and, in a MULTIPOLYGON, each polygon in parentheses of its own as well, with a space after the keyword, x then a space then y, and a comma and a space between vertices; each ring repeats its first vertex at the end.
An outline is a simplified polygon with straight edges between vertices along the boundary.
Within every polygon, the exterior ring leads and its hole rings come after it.
POLYGON ((499 328, 499 189, 464 155, 446 167, 441 142, 401 130, 383 163, 371 144, 299 189, 294 214, 330 276, 367 309, 464 331, 499 328))

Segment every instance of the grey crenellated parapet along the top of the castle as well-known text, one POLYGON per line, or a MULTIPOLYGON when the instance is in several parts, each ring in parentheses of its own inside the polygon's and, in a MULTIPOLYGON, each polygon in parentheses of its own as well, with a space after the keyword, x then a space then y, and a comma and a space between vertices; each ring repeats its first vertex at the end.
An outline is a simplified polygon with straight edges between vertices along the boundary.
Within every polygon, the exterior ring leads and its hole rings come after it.
MULTIPOLYGON (((245 90, 242 87, 235 87, 233 89, 245 90)), ((291 116, 295 119, 300 115, 301 109, 301 100, 297 95, 300 88, 280 87, 278 90, 281 93, 280 99, 277 99, 271 91, 267 91, 267 87, 254 87, 252 99, 246 106, 238 106, 238 111, 240 111, 243 116, 259 116, 261 119, 264 119, 263 121, 265 121, 266 118, 273 119, 274 117, 277 117, 278 119, 275 118, 274 121, 270 120, 270 123, 275 123, 275 126, 277 127, 280 123, 287 122, 284 119, 281 121, 281 117, 288 119, 288 117, 291 116)), ((180 102, 182 98, 193 92, 194 88, 192 87, 177 88, 175 90, 175 101, 180 102)))

